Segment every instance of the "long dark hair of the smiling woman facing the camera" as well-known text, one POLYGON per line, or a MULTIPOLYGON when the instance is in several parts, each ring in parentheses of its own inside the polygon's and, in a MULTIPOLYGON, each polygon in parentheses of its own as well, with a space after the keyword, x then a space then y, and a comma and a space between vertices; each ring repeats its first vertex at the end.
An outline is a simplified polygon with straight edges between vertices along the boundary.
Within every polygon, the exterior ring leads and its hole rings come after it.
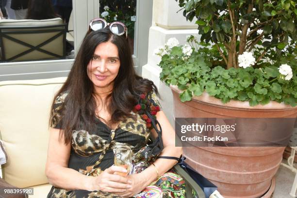
MULTIPOLYGON (((73 130, 83 129, 91 131, 95 129, 96 101, 93 82, 87 75, 87 65, 94 56, 96 47, 100 43, 108 41, 117 46, 120 68, 114 80, 113 91, 107 96, 107 99, 110 99, 108 111, 112 115, 111 121, 107 123, 116 123, 132 116, 130 112, 138 103, 141 93, 148 93, 153 90, 158 94, 157 88, 152 81, 136 75, 131 48, 125 35, 115 35, 109 29, 87 33, 65 84, 54 97, 55 101, 62 92, 67 91, 67 96, 61 109, 62 130, 60 131, 60 137, 64 135, 66 144, 70 142, 73 130)), ((51 106, 50 117, 53 116, 53 108, 54 102, 51 106)), ((49 124, 51 125, 51 123, 52 121, 50 120, 49 124)))

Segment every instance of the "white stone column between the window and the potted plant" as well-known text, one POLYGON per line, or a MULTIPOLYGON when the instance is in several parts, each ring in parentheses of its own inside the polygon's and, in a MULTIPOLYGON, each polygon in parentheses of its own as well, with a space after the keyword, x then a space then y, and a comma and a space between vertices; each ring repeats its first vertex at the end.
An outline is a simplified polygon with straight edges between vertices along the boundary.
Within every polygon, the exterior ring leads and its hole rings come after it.
POLYGON ((186 21, 183 11, 175 0, 153 0, 152 26, 148 36, 148 64, 142 68, 142 76, 152 80, 161 95, 161 105, 164 112, 174 127, 172 93, 169 87, 160 81, 161 68, 158 66, 161 58, 153 54, 158 46, 164 46, 167 40, 175 37, 180 45, 186 43, 187 35, 198 35, 198 25, 195 19, 186 21), (177 13, 178 12, 178 13, 177 13))

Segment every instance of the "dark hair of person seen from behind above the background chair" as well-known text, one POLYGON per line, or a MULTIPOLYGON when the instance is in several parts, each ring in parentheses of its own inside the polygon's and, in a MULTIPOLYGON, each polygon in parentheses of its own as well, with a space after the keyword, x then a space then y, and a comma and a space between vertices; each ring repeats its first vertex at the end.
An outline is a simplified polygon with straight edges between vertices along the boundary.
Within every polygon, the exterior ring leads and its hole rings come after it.
POLYGON ((29 0, 26 19, 42 20, 60 17, 52 7, 51 0, 29 0))

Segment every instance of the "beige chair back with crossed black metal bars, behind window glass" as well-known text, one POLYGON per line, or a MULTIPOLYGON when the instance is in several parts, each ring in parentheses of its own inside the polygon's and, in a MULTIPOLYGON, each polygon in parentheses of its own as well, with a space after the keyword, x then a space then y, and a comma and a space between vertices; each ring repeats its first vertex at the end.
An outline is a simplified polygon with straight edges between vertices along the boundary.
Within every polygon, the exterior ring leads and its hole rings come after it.
POLYGON ((66 30, 66 24, 0 26, 1 61, 64 59, 66 30))

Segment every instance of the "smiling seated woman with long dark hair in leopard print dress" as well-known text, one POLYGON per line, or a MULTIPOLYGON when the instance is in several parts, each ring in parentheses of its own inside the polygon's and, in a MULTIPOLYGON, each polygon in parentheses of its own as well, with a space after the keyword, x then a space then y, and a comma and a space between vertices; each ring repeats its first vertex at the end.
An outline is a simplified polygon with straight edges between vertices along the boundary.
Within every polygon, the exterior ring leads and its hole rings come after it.
MULTIPOLYGON (((157 107, 159 101, 152 81, 135 74, 127 28, 120 22, 93 25, 103 29, 86 34, 51 108, 46 175, 55 187, 48 198, 183 197, 181 177, 166 172, 176 160, 141 157, 150 133, 157 135, 135 107, 148 100, 157 107), (139 100, 143 93, 148 100, 139 100), (125 168, 113 166, 113 150, 122 146, 135 153, 126 177, 115 174, 127 173, 125 168)), ((180 157, 162 108, 155 116, 163 129, 160 155, 180 157)))

